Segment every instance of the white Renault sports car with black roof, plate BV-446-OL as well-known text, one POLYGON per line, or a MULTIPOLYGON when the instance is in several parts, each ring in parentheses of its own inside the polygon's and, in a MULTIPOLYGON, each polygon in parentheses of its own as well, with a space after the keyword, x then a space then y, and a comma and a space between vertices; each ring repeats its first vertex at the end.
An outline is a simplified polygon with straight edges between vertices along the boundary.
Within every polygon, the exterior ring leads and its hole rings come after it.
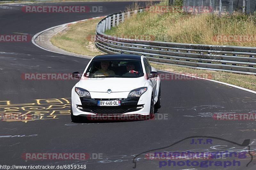
POLYGON ((81 116, 154 117, 161 107, 160 78, 140 55, 97 55, 91 59, 71 91, 71 119, 81 116))

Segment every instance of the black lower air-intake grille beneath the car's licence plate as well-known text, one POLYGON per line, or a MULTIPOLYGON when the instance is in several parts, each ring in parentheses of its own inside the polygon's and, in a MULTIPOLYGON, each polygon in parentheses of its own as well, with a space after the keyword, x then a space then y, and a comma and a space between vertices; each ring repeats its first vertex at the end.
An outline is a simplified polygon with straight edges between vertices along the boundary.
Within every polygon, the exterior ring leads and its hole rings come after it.
POLYGON ((126 106, 80 106, 84 112, 92 112, 96 114, 123 114, 126 112, 134 112, 140 110, 143 105, 126 105, 126 106))

